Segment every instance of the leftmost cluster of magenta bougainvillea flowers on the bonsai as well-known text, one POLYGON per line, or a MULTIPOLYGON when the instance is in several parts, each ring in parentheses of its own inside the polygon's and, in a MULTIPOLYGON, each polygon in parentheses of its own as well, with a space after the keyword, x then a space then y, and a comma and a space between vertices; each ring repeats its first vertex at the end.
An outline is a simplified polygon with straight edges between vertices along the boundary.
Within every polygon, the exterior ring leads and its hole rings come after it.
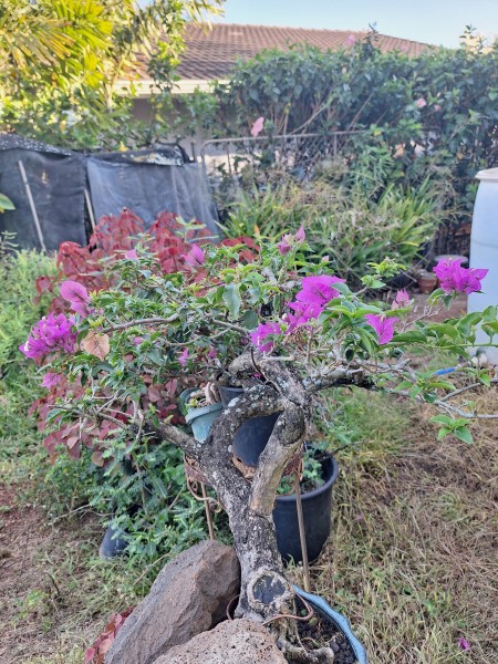
POLYGON ((27 357, 42 357, 49 353, 62 351, 73 353, 76 342, 76 333, 73 332, 74 320, 66 318, 63 313, 54 317, 53 313, 42 318, 28 338, 28 341, 19 346, 27 357))

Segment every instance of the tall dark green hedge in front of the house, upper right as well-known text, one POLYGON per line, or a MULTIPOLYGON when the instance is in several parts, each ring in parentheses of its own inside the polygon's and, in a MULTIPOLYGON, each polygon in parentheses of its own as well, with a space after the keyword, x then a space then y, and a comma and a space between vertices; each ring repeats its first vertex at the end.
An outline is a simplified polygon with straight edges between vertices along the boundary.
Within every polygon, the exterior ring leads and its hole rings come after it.
MULTIPOLYGON (((264 169, 271 169, 272 151, 276 156, 276 135, 360 131, 311 179, 325 177, 377 201, 387 186, 413 190, 429 176, 445 220, 465 222, 475 175, 494 166, 498 155, 498 42, 471 43, 409 58, 381 52, 372 33, 343 51, 266 51, 240 62, 212 94, 194 95, 187 112, 194 126, 215 137, 248 136, 263 116, 257 145, 264 169)), ((240 164, 239 181, 261 186, 243 159, 240 164)))

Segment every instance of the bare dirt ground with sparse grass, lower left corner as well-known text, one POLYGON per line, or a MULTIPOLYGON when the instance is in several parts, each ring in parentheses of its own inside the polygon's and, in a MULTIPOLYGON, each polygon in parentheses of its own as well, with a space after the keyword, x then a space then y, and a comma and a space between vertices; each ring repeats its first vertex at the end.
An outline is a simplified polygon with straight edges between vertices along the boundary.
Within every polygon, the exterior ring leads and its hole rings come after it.
POLYGON ((91 589, 80 561, 95 549, 98 525, 86 517, 77 528, 49 526, 41 509, 20 507, 1 485, 0 506, 0 664, 82 662, 95 621, 79 616, 82 574, 91 589))

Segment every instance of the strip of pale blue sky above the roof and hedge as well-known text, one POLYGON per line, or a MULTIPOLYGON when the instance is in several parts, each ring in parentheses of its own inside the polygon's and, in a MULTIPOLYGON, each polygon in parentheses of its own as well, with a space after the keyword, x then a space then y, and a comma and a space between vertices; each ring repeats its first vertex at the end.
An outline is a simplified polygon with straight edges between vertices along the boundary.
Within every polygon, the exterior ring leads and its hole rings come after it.
POLYGON ((498 38, 498 0, 227 0, 224 23, 366 30, 457 46, 466 25, 498 38))

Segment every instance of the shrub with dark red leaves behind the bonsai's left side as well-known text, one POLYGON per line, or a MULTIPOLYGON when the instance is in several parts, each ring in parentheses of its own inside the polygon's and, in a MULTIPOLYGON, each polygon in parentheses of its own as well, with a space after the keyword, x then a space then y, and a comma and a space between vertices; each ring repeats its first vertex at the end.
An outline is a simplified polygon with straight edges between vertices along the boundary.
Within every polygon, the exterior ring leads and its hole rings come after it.
MULTIPOLYGON (((173 212, 162 212, 151 229, 145 235, 145 226, 142 219, 129 210, 123 210, 118 216, 103 217, 86 247, 75 242, 62 242, 59 249, 56 264, 59 273, 55 278, 40 277, 37 280, 39 297, 42 293, 53 293, 50 312, 60 313, 70 311, 70 302, 59 294, 59 286, 63 281, 72 280, 83 286, 89 292, 100 291, 113 286, 113 272, 110 269, 116 260, 122 260, 125 253, 132 251, 138 242, 145 245, 155 253, 160 263, 163 273, 176 272, 185 267, 184 256, 188 252, 193 241, 203 241, 209 236, 208 230, 198 222, 198 227, 185 230, 178 217, 173 212)), ((249 238, 248 238, 249 240, 249 238)), ((250 240, 249 240, 250 241, 250 240)), ((147 384, 147 376, 145 383, 147 384)), ((176 381, 165 385, 147 385, 147 394, 143 397, 143 406, 153 403, 160 417, 167 417, 176 409, 174 400, 176 381)), ((61 376, 41 398, 31 406, 31 413, 38 416, 39 430, 45 430, 46 416, 59 398, 71 394, 73 401, 83 394, 83 388, 77 382, 70 383, 65 376, 61 376)), ((114 413, 117 419, 123 418, 120 411, 114 413)), ((179 415, 174 414, 174 421, 179 415)), ((50 433, 44 439, 44 446, 53 457, 58 445, 63 445, 72 458, 80 456, 81 446, 84 445, 93 450, 92 460, 102 466, 103 446, 98 440, 105 440, 106 436, 116 428, 110 421, 103 421, 97 427, 85 430, 80 425, 63 425, 50 433)))

